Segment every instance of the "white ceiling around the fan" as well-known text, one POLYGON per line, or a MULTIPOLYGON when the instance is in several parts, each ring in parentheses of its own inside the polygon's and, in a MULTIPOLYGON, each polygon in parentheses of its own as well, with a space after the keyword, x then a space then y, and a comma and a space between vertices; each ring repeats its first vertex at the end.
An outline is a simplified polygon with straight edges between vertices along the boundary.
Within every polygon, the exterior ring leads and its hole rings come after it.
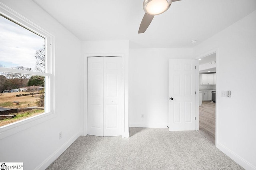
POLYGON ((130 48, 193 47, 256 10, 256 0, 182 0, 138 34, 143 0, 33 1, 80 40, 129 40, 130 48))

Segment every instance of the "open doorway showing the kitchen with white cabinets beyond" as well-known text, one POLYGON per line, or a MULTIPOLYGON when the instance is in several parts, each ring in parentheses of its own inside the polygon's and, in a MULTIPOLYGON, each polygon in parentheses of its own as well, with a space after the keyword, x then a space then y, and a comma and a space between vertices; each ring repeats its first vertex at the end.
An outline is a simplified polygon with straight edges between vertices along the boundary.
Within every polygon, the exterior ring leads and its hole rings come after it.
POLYGON ((215 144, 216 52, 199 60, 199 132, 215 144))

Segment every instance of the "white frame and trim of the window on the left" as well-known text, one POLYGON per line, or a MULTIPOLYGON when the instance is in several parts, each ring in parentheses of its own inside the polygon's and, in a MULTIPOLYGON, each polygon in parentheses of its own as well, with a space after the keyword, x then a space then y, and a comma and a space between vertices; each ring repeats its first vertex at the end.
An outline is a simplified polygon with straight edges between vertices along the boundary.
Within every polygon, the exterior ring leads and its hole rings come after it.
MULTIPOLYGON (((21 26, 27 28, 28 30, 31 30, 35 34, 38 34, 45 38, 45 47, 46 47, 46 70, 45 73, 40 72, 33 72, 33 71, 25 71, 25 70, 19 70, 19 73, 29 74, 29 75, 42 75, 47 76, 48 79, 45 81, 45 87, 46 87, 46 98, 47 101, 45 103, 45 112, 36 115, 34 117, 29 117, 27 119, 23 119, 21 121, 17 121, 5 126, 0 127, 0 140, 2 138, 5 138, 7 136, 10 136, 12 134, 15 134, 17 132, 20 132, 22 130, 25 130, 27 128, 31 128, 33 126, 36 126, 40 123, 44 123, 50 119, 53 119, 57 117, 55 111, 54 111, 54 44, 55 44, 55 37, 47 32, 46 30, 40 28, 30 20, 24 18, 8 6, 4 5, 2 2, 0 2, 0 14, 5 16, 6 18, 9 18, 10 20, 13 20, 17 24, 20 24, 21 26)), ((8 73, 17 73, 16 69, 10 69, 10 68, 4 68, 0 67, 0 72, 8 72, 8 73)))

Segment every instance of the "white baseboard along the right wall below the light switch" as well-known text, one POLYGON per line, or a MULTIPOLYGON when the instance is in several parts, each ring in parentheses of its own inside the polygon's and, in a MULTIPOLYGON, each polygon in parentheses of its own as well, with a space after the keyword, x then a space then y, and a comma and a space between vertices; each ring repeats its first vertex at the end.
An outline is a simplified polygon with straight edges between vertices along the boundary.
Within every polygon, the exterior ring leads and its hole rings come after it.
POLYGON ((224 154, 226 154, 228 157, 230 157, 232 160, 234 160, 236 163, 238 163, 240 166, 242 166, 246 170, 256 170, 256 167, 232 152, 230 149, 226 148, 226 146, 220 144, 219 142, 216 144, 216 147, 221 150, 224 154))

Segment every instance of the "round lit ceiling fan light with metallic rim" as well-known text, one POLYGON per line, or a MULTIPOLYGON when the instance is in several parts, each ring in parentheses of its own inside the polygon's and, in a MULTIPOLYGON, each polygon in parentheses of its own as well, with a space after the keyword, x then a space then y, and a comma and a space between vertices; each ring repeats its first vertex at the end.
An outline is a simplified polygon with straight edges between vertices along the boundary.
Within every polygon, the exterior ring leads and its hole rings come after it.
POLYGON ((143 9, 147 14, 159 15, 170 8, 172 0, 144 0, 143 9))

